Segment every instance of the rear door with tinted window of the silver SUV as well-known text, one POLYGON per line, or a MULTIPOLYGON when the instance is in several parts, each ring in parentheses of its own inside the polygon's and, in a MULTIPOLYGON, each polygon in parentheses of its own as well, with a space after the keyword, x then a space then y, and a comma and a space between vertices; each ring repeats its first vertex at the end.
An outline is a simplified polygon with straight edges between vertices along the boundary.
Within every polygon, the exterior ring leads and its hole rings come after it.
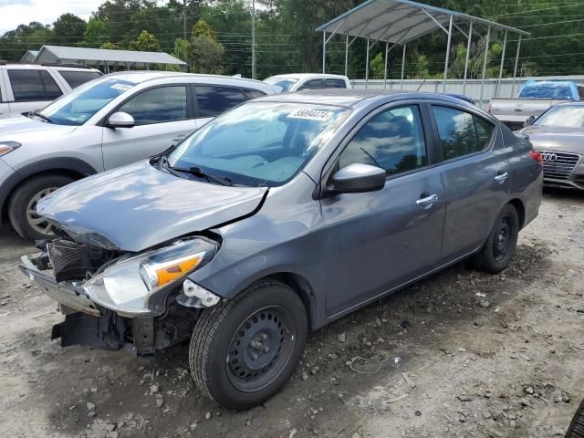
POLYGON ((197 129, 248 99, 239 87, 225 85, 196 85, 193 86, 193 95, 197 129))

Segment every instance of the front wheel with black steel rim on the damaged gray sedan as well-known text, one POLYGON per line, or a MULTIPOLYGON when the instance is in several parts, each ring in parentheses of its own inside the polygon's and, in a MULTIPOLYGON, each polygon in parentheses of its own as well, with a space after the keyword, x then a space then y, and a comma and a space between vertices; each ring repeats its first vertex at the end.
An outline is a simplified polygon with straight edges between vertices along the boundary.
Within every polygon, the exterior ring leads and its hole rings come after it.
POLYGON ((276 394, 292 376, 307 336, 307 311, 296 292, 275 280, 261 281, 234 299, 203 311, 189 348, 191 375, 204 395, 225 408, 257 406, 276 394), (267 340, 261 342, 274 348, 257 353, 254 339, 264 336, 259 339, 267 340), (262 361, 264 366, 260 366, 262 361), (239 365, 244 374, 251 371, 239 377, 239 365), (259 368, 253 369, 255 365, 259 368))

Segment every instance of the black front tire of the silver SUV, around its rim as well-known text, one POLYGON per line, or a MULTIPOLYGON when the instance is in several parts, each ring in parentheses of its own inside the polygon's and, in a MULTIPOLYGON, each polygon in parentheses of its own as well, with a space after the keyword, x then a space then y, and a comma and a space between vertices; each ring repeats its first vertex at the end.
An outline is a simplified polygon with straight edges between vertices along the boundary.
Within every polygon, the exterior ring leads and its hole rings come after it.
MULTIPOLYGON (((43 233, 40 226, 43 223, 32 224, 29 220, 33 218, 27 214, 29 203, 39 194, 49 192, 54 189, 63 187, 68 183, 73 183, 75 180, 66 175, 42 175, 27 180, 20 184, 16 191, 12 194, 10 202, 8 203, 8 218, 16 233, 28 240, 47 239, 53 235, 50 233, 50 228, 47 228, 48 233, 43 233)), ((31 205, 36 208, 36 203, 31 205)), ((40 220, 40 219, 38 219, 40 220)), ((47 224, 48 225, 48 224, 47 224)))

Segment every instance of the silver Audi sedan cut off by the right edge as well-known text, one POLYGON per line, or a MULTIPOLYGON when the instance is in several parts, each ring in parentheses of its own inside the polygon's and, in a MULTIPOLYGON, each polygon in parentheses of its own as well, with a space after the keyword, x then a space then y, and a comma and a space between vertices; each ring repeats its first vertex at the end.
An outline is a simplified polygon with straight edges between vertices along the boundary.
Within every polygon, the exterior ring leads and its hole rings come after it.
POLYGON ((519 133, 541 152, 546 185, 584 190, 584 102, 556 105, 519 133))

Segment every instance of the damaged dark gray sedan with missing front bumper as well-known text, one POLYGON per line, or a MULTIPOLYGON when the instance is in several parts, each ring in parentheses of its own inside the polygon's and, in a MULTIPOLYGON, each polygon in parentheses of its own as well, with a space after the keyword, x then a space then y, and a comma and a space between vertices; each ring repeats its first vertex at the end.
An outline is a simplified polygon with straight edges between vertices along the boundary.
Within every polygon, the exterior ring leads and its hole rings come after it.
POLYGON ((191 339, 199 389, 242 409, 284 385, 309 329, 469 256, 505 269, 540 154, 460 99, 381 93, 257 99, 48 195, 60 237, 20 267, 67 315, 53 338, 136 354, 191 339))

